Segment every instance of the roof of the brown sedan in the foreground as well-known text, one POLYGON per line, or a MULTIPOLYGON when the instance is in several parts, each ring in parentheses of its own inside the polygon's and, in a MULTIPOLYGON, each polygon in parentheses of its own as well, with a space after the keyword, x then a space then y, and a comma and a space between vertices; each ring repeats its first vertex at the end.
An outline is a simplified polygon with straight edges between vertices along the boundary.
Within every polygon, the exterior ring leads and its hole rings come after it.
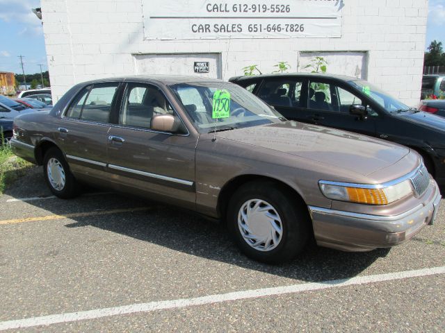
POLYGON ((137 82, 156 82, 164 85, 175 85, 177 83, 203 83, 203 82, 225 82, 217 78, 206 78, 203 76, 185 76, 185 75, 135 75, 124 76, 117 78, 101 78, 97 80, 90 80, 81 83, 82 85, 89 85, 93 83, 107 83, 117 81, 137 81, 137 82))

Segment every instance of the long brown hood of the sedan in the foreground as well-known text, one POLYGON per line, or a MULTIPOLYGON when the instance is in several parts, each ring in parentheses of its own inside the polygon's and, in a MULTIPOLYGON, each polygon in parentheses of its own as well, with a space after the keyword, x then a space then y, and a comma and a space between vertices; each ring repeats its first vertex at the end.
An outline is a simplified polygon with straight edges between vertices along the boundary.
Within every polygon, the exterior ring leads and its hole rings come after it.
POLYGON ((216 133, 216 137, 260 146, 339 167, 364 176, 395 164, 409 148, 365 135, 286 121, 216 133))

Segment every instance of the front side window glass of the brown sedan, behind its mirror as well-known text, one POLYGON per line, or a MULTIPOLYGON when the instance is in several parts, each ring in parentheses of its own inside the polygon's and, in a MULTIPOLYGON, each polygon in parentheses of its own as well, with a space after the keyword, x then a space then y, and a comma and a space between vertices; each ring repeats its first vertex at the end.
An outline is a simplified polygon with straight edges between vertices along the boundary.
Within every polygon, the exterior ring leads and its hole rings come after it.
POLYGON ((151 85, 128 85, 119 123, 126 126, 150 128, 155 114, 173 114, 173 109, 163 93, 151 85))

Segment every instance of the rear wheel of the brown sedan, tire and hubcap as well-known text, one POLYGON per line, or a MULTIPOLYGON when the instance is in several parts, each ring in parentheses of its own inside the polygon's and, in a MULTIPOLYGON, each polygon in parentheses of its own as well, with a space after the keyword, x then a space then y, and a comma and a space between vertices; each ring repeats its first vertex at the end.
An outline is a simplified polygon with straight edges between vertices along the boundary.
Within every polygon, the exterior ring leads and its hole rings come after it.
POLYGON ((44 179, 51 192, 59 198, 79 195, 80 185, 70 171, 63 153, 56 147, 49 148, 43 161, 44 179))

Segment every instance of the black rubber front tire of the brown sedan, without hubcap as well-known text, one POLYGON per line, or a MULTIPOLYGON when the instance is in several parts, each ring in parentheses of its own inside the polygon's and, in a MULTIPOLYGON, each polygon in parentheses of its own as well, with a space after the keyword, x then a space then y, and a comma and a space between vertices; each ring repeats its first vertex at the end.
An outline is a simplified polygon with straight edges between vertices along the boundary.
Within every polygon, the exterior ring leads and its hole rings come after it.
MULTIPOLYGON (((306 205, 295 193, 273 181, 253 181, 240 187, 229 201, 227 227, 234 242, 245 255, 268 264, 287 262, 298 255, 305 248, 309 240, 309 230, 311 230, 309 228, 310 217, 306 205), (248 207, 245 204, 252 199, 266 201, 275 209, 281 220, 282 236, 280 241, 277 242, 277 246, 271 250, 257 250, 253 248, 248 244, 248 241, 252 243, 254 241, 245 240, 243 231, 238 226, 238 214, 241 214, 241 207, 248 207)), ((244 234, 249 235, 245 230, 244 234)), ((266 245, 264 245, 263 249, 265 248, 266 245)))

